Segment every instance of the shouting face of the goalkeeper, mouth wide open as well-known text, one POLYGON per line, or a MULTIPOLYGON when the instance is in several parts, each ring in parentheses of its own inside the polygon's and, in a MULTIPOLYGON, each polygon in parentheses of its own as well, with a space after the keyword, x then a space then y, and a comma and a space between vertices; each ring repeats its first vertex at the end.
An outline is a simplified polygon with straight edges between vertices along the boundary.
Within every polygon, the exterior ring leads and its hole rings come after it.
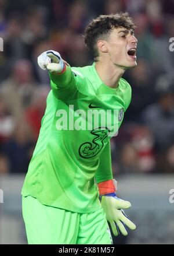
POLYGON ((136 66, 137 39, 133 30, 124 27, 115 28, 111 31, 107 40, 108 54, 114 65, 122 68, 136 66))

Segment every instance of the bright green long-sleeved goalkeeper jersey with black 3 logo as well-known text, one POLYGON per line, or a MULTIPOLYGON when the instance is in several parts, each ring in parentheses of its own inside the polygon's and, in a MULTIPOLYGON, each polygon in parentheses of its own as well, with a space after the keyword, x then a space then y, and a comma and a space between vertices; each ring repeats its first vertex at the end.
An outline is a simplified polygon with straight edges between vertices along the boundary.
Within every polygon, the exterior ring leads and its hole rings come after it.
POLYGON ((122 78, 115 89, 104 85, 95 64, 49 76, 52 90, 21 193, 67 211, 94 212, 101 207, 95 180, 113 178, 110 139, 131 86, 122 78))

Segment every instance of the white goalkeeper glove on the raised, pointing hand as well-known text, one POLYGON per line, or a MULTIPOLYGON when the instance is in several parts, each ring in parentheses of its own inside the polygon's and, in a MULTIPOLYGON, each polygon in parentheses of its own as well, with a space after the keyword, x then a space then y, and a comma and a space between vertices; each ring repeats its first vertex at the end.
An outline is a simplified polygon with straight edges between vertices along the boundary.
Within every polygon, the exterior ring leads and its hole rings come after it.
POLYGON ((51 73, 61 73, 64 69, 64 61, 57 51, 45 51, 38 57, 38 65, 42 69, 48 69, 51 73))

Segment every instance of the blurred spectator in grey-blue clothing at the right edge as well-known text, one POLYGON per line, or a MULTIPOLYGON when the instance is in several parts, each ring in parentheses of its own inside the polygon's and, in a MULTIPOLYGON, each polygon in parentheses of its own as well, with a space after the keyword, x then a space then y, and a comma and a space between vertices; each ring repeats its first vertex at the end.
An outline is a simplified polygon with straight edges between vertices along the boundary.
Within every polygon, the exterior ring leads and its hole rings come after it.
POLYGON ((174 134, 174 84, 164 76, 158 80, 158 102, 143 112, 143 120, 150 127, 158 151, 165 151, 174 134))

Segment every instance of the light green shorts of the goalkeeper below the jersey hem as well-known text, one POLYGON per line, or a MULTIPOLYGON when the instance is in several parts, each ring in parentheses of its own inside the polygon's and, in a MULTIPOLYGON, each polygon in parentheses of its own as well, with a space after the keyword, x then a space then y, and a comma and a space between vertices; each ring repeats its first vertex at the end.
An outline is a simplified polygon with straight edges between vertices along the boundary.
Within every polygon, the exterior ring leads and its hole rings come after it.
POLYGON ((28 244, 111 244, 103 209, 76 213, 23 197, 28 244), (49 221, 48 221, 49 220, 49 221))

